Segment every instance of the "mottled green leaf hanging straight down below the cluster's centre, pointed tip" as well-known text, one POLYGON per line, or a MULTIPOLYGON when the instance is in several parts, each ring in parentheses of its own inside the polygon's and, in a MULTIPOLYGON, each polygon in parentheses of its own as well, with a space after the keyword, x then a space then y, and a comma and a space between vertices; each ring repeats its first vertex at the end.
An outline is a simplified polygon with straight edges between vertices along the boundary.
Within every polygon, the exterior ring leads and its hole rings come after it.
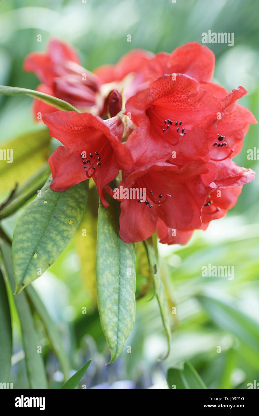
POLYGON ((120 205, 109 198, 100 203, 96 252, 97 298, 101 326, 111 350, 118 358, 133 328, 136 314, 136 258, 133 244, 119 237, 120 205))

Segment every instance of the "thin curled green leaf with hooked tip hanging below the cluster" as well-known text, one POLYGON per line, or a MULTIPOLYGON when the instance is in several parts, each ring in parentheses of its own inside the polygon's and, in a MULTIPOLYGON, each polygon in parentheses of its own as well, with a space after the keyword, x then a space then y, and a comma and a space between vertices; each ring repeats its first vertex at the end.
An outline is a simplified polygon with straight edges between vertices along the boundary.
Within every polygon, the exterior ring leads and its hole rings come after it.
POLYGON ((148 260, 150 265, 150 270, 153 276, 153 285, 155 297, 157 298, 160 314, 163 322, 163 327, 165 329, 165 334, 168 341, 168 352, 163 359, 166 359, 170 352, 171 345, 171 328, 170 328, 170 316, 169 316, 169 307, 165 293, 165 286, 160 275, 160 270, 158 266, 158 260, 155 254, 155 248, 153 246, 152 237, 148 238, 145 241, 146 250, 148 253, 148 260))

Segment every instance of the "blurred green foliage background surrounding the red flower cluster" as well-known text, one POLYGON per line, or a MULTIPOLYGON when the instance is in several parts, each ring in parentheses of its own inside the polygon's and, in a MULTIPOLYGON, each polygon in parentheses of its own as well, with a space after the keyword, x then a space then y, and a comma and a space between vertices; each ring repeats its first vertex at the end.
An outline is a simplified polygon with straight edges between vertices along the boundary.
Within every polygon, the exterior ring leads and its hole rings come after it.
MULTIPOLYGON (((49 37, 70 42, 89 70, 116 63, 134 48, 171 52, 185 42, 201 43, 202 32, 234 32, 234 46, 210 44, 216 55, 214 81, 228 90, 248 90, 240 100, 259 119, 259 3, 248 0, 2 0, 0 2, 0 84, 35 89, 37 78, 22 70, 23 59, 44 51, 49 37), (42 42, 37 42, 37 35, 42 42), (131 42, 127 42, 127 35, 131 42)), ((41 129, 31 116, 29 97, 0 97, 0 146, 17 135, 41 129)), ((258 172, 259 161, 247 160, 257 145, 258 127, 251 126, 242 153, 235 161, 258 172)), ((47 159, 49 145, 33 138, 16 144, 16 167, 2 172, 0 198, 15 181, 24 180, 47 159), (26 142, 26 143, 25 143, 26 142), (26 160, 26 163, 25 163, 26 160), (19 169, 20 166, 20 169, 19 169), (5 176, 6 175, 6 176, 5 176), (8 176, 9 175, 9 176, 8 176)), ((0 171, 1 174, 1 171, 0 171)), ((259 381, 259 177, 244 186, 237 205, 226 218, 197 231, 184 247, 159 245, 161 270, 172 314, 172 349, 164 362, 166 339, 155 300, 146 293, 150 276, 138 246, 136 324, 118 360, 109 365, 109 348, 96 306, 96 193, 91 190, 84 218, 87 241, 79 235, 34 285, 62 332, 73 369, 92 358, 81 383, 87 388, 167 388, 166 370, 190 360, 208 388, 247 388, 259 381), (89 230, 89 232, 88 232, 89 230), (234 266, 234 279, 202 277, 203 265, 234 266), (86 306, 87 315, 82 315, 86 306), (217 352, 218 346, 221 352, 217 352)), ((12 235, 19 213, 2 221, 12 235)), ((79 227, 81 229, 81 227, 79 227)), ((28 382, 19 322, 13 311, 14 351, 10 380, 15 388, 28 382)), ((50 387, 61 385, 62 373, 49 348, 44 327, 37 330, 50 387)))

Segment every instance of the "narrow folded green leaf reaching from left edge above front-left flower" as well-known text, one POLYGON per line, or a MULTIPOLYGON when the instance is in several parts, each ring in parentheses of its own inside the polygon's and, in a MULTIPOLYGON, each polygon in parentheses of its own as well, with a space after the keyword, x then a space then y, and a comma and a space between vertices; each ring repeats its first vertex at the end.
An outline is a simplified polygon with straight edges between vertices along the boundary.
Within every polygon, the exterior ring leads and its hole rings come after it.
POLYGON ((19 87, 7 87, 6 85, 0 85, 0 94, 2 95, 28 95, 29 97, 40 99, 41 101, 50 104, 59 110, 70 110, 80 113, 76 107, 72 106, 68 102, 61 100, 52 95, 44 94, 44 92, 35 91, 34 89, 19 88, 19 87))

